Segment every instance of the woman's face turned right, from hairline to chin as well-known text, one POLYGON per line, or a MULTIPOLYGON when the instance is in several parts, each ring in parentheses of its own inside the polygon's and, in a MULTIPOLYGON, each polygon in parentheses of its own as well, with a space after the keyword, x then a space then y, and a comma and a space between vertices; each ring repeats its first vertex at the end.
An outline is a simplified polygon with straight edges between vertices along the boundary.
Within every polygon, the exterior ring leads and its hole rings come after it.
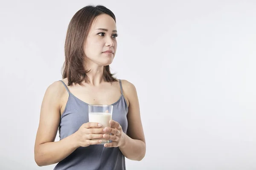
POLYGON ((93 22, 84 43, 84 53, 90 61, 98 65, 110 65, 116 54, 116 23, 114 19, 101 14, 93 22), (105 51, 111 50, 112 53, 105 51))

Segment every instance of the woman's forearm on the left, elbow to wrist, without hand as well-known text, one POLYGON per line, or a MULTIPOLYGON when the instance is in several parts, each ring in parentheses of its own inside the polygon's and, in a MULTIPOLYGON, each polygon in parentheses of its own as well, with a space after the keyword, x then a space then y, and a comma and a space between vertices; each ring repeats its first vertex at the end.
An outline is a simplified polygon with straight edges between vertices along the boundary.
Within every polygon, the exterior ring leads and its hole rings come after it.
POLYGON ((74 134, 58 142, 40 144, 35 152, 35 161, 38 166, 55 164, 65 159, 78 147, 74 134))

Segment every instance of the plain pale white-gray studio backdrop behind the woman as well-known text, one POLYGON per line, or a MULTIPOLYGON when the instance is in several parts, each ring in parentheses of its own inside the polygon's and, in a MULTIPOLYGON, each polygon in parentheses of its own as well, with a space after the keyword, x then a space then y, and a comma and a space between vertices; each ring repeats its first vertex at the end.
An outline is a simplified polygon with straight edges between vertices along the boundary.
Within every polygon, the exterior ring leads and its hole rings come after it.
POLYGON ((90 4, 116 15, 111 71, 139 96, 147 150, 127 170, 255 170, 255 0, 1 0, 0 170, 55 167, 34 161, 41 102, 90 4))

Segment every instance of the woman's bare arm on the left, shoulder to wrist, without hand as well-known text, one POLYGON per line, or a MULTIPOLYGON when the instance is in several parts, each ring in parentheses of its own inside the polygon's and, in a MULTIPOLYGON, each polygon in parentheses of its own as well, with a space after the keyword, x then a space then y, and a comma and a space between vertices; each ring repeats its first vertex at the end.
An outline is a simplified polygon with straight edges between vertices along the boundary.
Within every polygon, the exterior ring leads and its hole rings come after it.
POLYGON ((38 166, 55 164, 69 156, 78 145, 74 134, 54 142, 60 122, 60 100, 65 88, 61 82, 50 85, 41 105, 40 121, 35 139, 35 162, 38 166))

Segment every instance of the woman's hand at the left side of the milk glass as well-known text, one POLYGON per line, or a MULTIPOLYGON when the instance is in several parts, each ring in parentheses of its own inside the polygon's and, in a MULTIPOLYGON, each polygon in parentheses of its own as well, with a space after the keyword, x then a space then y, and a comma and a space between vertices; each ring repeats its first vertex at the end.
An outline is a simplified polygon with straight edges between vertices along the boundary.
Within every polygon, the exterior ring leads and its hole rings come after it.
POLYGON ((92 144, 100 144, 103 138, 103 129, 99 123, 87 122, 81 125, 79 130, 74 133, 75 140, 79 147, 87 147, 92 144), (91 140, 99 139, 99 140, 91 140))

